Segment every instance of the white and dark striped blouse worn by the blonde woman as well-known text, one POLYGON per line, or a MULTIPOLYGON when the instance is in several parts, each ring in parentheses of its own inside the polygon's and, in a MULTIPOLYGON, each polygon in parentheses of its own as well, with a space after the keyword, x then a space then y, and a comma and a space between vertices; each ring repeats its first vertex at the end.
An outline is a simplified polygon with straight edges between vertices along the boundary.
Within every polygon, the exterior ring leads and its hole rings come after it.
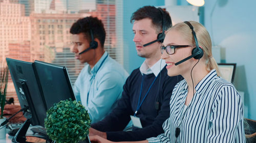
POLYGON ((148 138, 148 142, 245 142, 242 101, 233 84, 211 70, 195 89, 182 113, 188 85, 182 80, 175 86, 164 133, 148 138), (178 126, 180 135, 176 138, 178 126))

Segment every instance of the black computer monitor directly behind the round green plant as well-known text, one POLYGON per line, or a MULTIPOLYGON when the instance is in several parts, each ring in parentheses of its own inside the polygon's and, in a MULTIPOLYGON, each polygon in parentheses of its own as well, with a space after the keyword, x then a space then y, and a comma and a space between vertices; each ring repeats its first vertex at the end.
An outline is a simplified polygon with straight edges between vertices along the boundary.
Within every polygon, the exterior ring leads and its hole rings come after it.
POLYGON ((35 61, 35 69, 44 94, 47 109, 60 100, 75 100, 66 67, 35 61))

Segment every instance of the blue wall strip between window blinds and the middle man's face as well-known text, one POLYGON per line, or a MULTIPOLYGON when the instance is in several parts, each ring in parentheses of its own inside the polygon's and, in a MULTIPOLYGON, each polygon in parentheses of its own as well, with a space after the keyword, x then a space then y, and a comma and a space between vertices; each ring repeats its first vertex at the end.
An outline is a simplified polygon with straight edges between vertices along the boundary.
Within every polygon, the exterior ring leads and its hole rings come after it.
POLYGON ((140 67, 144 58, 137 55, 136 47, 133 42, 133 24, 130 23, 132 13, 143 6, 163 6, 163 0, 147 0, 147 1, 123 1, 123 45, 124 45, 124 68, 131 73, 134 69, 140 67))

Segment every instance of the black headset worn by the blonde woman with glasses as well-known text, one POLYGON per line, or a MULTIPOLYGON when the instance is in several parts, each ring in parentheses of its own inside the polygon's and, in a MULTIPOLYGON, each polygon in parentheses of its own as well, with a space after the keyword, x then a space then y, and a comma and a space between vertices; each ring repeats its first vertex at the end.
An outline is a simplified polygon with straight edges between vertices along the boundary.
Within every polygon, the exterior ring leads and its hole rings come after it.
POLYGON ((195 31, 194 31, 194 27, 188 21, 184 21, 184 23, 186 23, 190 27, 190 29, 192 31, 192 34, 194 36, 196 47, 192 49, 192 54, 190 56, 188 56, 187 58, 185 58, 185 59, 183 59, 183 60, 181 60, 181 61, 179 61, 177 63, 175 63, 175 66, 177 66, 177 65, 179 65, 179 64, 181 64, 181 63, 183 63, 183 62, 185 62, 185 61, 187 61, 187 60, 189 60, 191 58, 195 58, 195 59, 199 60, 199 59, 201 59, 203 57, 203 54, 204 54, 203 49, 199 48, 198 41, 197 41, 197 36, 196 36, 195 31))

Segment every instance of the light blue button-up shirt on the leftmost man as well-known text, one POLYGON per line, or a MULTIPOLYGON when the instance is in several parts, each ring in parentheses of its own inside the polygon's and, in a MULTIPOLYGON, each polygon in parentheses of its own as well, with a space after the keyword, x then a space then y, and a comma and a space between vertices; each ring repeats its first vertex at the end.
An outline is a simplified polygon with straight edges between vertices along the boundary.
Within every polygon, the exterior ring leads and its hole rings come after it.
POLYGON ((121 97, 123 84, 129 74, 107 52, 91 69, 86 65, 78 75, 74 94, 88 110, 92 123, 102 120, 121 97))

